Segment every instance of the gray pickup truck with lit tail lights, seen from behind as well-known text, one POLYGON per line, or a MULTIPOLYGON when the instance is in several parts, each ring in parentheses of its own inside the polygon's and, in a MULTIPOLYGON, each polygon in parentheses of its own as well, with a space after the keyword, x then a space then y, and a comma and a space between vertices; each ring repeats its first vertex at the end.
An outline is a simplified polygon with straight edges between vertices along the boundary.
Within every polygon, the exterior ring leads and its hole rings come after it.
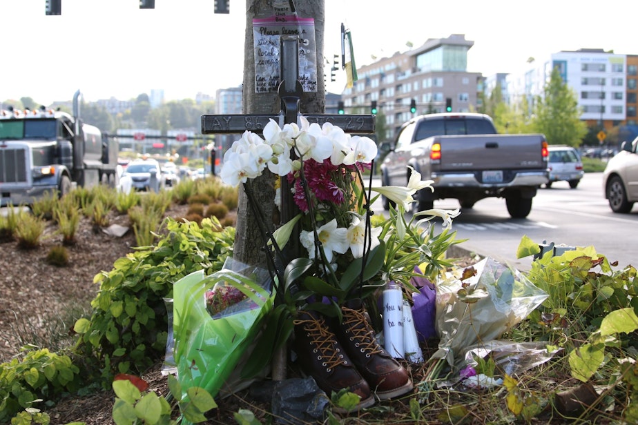
MULTIPOLYGON (((418 210, 432 208, 435 199, 458 199, 461 208, 472 208, 501 197, 512 218, 525 218, 537 189, 548 182, 548 144, 540 134, 496 134, 483 114, 421 115, 400 128, 380 167, 383 186, 405 186, 407 166, 434 181, 434 192, 414 196, 418 210)), ((389 199, 383 206, 389 208, 389 199)))

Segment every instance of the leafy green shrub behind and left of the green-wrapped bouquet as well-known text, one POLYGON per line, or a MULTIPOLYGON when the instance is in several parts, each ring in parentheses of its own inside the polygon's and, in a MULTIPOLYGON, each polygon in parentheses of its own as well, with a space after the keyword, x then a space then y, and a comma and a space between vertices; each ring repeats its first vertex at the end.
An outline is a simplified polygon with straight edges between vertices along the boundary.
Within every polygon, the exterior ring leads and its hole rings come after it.
POLYGON ((97 366, 108 384, 114 373, 140 372, 166 354, 168 315, 164 298, 173 284, 197 270, 220 270, 231 255, 235 230, 214 219, 164 221, 167 235, 155 248, 140 248, 95 276, 99 293, 89 319, 79 319, 77 354, 97 366))

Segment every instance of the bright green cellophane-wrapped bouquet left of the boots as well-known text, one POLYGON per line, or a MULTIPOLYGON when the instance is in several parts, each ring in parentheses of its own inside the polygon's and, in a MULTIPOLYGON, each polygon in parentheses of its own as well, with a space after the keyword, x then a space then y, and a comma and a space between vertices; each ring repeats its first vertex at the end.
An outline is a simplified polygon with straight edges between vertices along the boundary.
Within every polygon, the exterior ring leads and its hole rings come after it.
POLYGON ((183 397, 193 386, 215 397, 241 366, 240 358, 272 308, 271 287, 266 270, 231 258, 212 275, 200 270, 175 282, 175 363, 183 397), (209 303, 213 298, 219 302, 209 303))

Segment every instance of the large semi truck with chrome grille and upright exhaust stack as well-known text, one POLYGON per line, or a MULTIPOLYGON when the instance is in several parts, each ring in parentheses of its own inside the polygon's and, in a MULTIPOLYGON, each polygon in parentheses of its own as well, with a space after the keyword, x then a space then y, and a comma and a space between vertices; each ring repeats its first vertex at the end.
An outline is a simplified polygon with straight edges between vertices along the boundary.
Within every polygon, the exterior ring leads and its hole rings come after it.
POLYGON ((0 110, 0 206, 29 206, 74 186, 117 184, 117 139, 82 121, 78 90, 73 115, 41 107, 0 110))

